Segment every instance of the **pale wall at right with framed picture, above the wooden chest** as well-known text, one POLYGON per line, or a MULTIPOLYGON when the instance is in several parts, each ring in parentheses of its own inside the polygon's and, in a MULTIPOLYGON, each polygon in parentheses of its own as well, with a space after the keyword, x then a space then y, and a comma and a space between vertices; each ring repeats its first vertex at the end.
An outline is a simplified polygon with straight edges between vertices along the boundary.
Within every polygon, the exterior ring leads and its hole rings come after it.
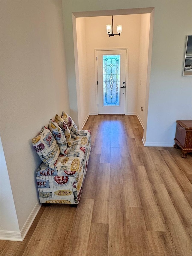
POLYGON ((182 76, 191 20, 191 1, 166 1, 155 10, 146 145, 173 146, 176 120, 192 119, 192 77, 182 76))

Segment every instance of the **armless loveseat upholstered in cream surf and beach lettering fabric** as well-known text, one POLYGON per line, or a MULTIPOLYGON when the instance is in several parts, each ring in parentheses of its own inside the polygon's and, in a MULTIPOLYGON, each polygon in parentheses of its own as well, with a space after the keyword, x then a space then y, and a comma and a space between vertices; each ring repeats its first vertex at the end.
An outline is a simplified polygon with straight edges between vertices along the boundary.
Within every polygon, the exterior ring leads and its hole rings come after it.
MULTIPOLYGON (((52 123, 54 122, 52 121, 52 123)), ((47 128, 44 127, 44 129, 47 128)), ((41 133, 40 135, 42 137, 41 133)), ((43 140, 46 141, 48 138, 48 141, 51 142, 51 145, 55 143, 55 145, 52 146, 50 152, 58 154, 57 148, 60 143, 57 144, 58 141, 54 141, 55 137, 56 136, 53 131, 51 133, 51 131, 48 130, 46 136, 43 136, 43 140)), ((50 166, 50 163, 47 164, 48 160, 46 160, 48 157, 49 160, 52 160, 51 154, 53 153, 49 153, 46 159, 40 156, 43 160, 43 163, 36 171, 40 203, 62 203, 76 206, 78 205, 85 174, 87 171, 87 164, 91 153, 91 132, 80 130, 77 131, 76 136, 74 137, 75 138, 71 138, 70 147, 67 146, 64 154, 60 153, 58 155, 54 165, 50 166)), ((37 141, 36 138, 32 140, 33 145, 37 141)), ((35 150, 37 152, 39 152, 38 150, 42 148, 41 144, 42 143, 39 143, 38 146, 34 146, 36 147, 35 150)), ((44 150, 45 149, 46 148, 44 148, 44 150)))

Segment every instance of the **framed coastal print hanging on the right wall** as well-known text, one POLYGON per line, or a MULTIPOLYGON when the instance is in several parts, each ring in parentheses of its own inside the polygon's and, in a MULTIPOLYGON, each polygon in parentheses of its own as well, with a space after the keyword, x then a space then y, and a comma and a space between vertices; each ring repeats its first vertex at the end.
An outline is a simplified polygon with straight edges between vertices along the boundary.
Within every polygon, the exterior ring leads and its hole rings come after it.
POLYGON ((192 76, 192 35, 187 36, 183 76, 192 76))

